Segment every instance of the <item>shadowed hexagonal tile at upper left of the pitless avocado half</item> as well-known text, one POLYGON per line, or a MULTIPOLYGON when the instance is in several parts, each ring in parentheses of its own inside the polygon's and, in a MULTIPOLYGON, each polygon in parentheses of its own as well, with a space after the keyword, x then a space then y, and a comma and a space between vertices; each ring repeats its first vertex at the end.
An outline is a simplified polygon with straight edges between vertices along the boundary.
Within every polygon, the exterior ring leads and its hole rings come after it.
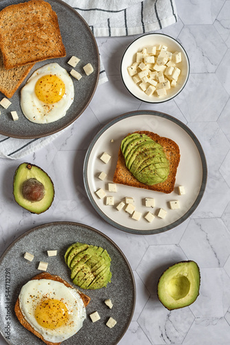
POLYGON ((187 257, 179 246, 149 246, 140 264, 136 268, 136 273, 149 292, 151 294, 156 294, 160 275, 162 275, 169 266, 182 260, 187 260, 187 257))

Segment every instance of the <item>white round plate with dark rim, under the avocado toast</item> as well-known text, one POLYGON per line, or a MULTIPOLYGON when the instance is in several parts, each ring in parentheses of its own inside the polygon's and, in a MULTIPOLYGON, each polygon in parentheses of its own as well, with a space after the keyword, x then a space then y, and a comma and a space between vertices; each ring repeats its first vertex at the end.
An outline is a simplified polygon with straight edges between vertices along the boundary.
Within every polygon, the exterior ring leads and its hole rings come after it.
POLYGON ((129 233, 148 235, 163 233, 174 228, 194 212, 205 191, 207 164, 200 142, 185 124, 162 112, 138 110, 112 120, 94 137, 85 156, 83 179, 92 206, 105 221, 129 233), (116 193, 109 193, 107 190, 107 184, 113 181, 121 141, 126 135, 136 130, 156 132, 161 137, 168 137, 178 144, 180 164, 172 193, 159 193, 122 184, 117 184, 116 193), (111 142, 112 139, 113 142, 111 142), (107 164, 100 159, 103 152, 111 156, 107 164), (102 171, 107 174, 103 181, 98 179, 102 171), (178 195, 178 186, 185 187, 185 195, 178 195), (106 206, 105 198, 98 198, 95 192, 99 188, 105 190, 107 196, 114 197, 114 206, 106 206), (139 221, 132 219, 124 209, 116 210, 116 205, 125 197, 134 198, 136 210, 142 213, 139 221), (146 197, 155 199, 154 208, 145 206, 146 197), (169 208, 169 201, 173 200, 179 201, 179 209, 169 208), (167 210, 165 219, 156 216, 159 208, 167 210), (151 223, 144 218, 148 211, 156 216, 151 223))

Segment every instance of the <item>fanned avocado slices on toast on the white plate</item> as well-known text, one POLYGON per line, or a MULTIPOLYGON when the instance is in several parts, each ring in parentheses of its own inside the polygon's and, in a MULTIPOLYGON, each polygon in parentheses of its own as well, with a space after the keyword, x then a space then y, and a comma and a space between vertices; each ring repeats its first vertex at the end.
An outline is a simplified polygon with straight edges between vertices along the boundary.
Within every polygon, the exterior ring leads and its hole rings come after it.
POLYGON ((148 186, 164 182, 169 161, 163 147, 147 135, 132 133, 121 142, 125 165, 138 181, 148 186))

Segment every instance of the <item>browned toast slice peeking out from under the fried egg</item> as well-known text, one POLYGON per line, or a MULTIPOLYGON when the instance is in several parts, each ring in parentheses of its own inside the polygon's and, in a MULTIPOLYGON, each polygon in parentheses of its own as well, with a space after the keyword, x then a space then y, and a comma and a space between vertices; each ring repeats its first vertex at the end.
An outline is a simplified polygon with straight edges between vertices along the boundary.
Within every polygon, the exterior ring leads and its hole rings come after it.
MULTIPOLYGON (((68 288, 72 288, 72 286, 65 282, 64 279, 62 279, 61 277, 59 277, 59 275, 50 275, 50 273, 44 272, 44 273, 40 273, 39 275, 35 275, 35 277, 31 278, 30 280, 34 280, 34 279, 50 279, 50 280, 56 280, 56 282, 61 282, 63 283, 65 286, 67 286, 68 288)), ((90 297, 85 295, 84 293, 82 293, 80 290, 78 290, 79 295, 81 297, 81 299, 83 300, 83 303, 85 306, 87 306, 90 303, 90 297)), ((52 342, 48 342, 47 340, 43 339, 43 336, 34 330, 34 328, 32 328, 32 326, 30 326, 30 324, 26 321, 25 317, 23 316, 23 313, 21 312, 21 308, 19 305, 19 298, 16 301, 16 304, 14 306, 14 311, 15 314, 17 316, 17 318, 19 319, 19 322, 22 324, 22 326, 24 326, 26 329, 28 329, 28 331, 34 333, 34 335, 36 335, 36 337, 39 337, 41 340, 43 340, 43 342, 47 345, 60 345, 61 342, 59 343, 52 343, 52 342)))

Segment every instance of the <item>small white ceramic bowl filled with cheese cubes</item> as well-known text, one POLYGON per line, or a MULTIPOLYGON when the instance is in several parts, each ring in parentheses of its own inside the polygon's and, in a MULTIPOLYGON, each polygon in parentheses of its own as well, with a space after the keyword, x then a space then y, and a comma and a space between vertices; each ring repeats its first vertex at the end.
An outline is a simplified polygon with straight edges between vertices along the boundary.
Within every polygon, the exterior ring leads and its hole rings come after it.
POLYGON ((187 57, 185 49, 180 43, 178 43, 178 41, 176 41, 176 39, 173 39, 166 34, 145 34, 141 37, 138 37, 138 39, 133 41, 125 50, 121 60, 121 77, 125 87, 134 97, 148 103, 161 103, 176 97, 176 95, 180 93, 187 83, 189 78, 189 70, 189 58, 187 57), (181 70, 180 76, 178 77, 178 82, 174 88, 167 90, 167 95, 163 97, 158 97, 156 92, 154 92, 154 95, 151 96, 146 95, 146 93, 141 90, 136 83, 134 83, 134 80, 132 77, 130 77, 127 71, 127 67, 131 66, 132 63, 136 61, 136 52, 141 52, 141 50, 147 46, 158 46, 159 44, 167 46, 170 52, 178 51, 181 52, 182 55, 182 61, 176 64, 176 66, 181 70))

